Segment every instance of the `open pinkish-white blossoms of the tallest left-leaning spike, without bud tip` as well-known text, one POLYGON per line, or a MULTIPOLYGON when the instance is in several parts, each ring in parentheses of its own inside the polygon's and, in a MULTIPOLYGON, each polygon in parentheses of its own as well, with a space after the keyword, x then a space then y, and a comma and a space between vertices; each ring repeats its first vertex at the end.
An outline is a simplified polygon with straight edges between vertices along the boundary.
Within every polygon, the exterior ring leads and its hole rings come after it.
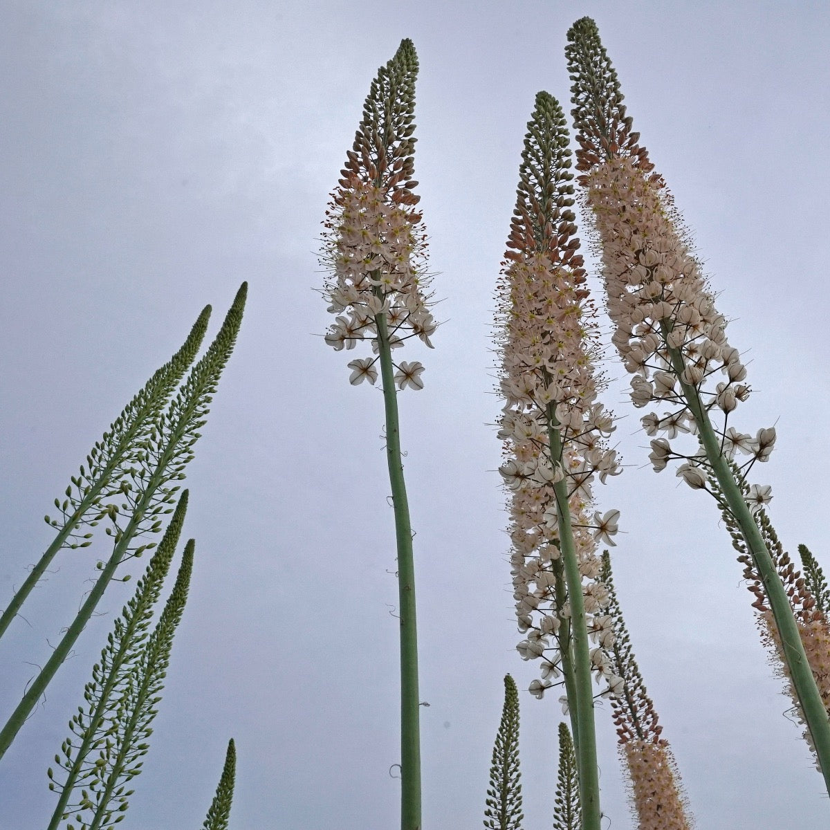
MULTIPOLYGON (((656 471, 671 458, 685 458, 677 471, 692 487, 705 487, 701 455, 675 452, 670 439, 696 432, 690 396, 712 417, 720 452, 742 453, 767 461, 775 430, 755 437, 728 426, 730 413, 749 397, 746 368, 726 339, 726 320, 715 309, 700 265, 681 241, 666 198, 631 159, 610 159, 587 177, 588 205, 593 210, 603 256, 608 314, 616 330, 613 343, 632 373, 632 403, 657 403, 667 412, 648 413, 642 425, 652 440, 650 459, 656 471), (679 383, 678 383, 679 381, 679 383)), ((748 466, 745 465, 745 466, 748 466)), ((769 488, 758 488, 754 504, 769 501, 769 488)))

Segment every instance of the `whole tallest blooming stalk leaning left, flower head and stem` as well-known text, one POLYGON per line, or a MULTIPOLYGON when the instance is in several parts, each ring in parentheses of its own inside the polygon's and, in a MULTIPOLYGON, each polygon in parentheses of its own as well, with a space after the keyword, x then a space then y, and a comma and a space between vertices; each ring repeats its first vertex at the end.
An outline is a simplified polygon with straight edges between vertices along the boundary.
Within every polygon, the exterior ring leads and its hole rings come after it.
POLYGON ((616 326, 613 343, 632 373, 632 403, 657 403, 668 412, 642 418, 652 440, 650 459, 660 471, 672 458, 693 489, 720 488, 745 541, 754 569, 764 583, 774 626, 784 647, 789 675, 816 747, 830 792, 830 720, 810 671, 798 624, 784 585, 776 574, 754 511, 769 503, 769 486, 742 490, 749 469, 769 459, 774 428, 753 438, 729 426, 738 403, 749 397, 746 369, 726 339, 726 320, 701 266, 684 242, 681 223, 662 178, 652 172, 647 151, 632 131, 616 72, 599 40, 596 24, 584 17, 568 33, 566 54, 574 85, 574 124, 580 149, 586 202, 596 222, 602 254, 608 314, 616 326), (723 378, 720 379, 719 378, 723 378), (678 433, 694 432, 699 446, 681 452, 670 443, 678 433), (748 456, 733 467, 736 454, 748 456))

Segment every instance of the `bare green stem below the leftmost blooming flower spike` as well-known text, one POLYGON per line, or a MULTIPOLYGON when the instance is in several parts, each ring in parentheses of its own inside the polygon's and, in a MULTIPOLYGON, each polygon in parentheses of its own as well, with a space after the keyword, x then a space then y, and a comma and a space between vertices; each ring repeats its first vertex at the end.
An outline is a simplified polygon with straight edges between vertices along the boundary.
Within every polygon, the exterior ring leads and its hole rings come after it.
POLYGON ((421 701, 417 687, 417 626, 413 533, 409 523, 407 488, 403 481, 398 397, 386 315, 375 317, 378 353, 386 407, 386 459, 395 511, 398 543, 398 596, 401 623, 401 830, 421 830, 421 701))

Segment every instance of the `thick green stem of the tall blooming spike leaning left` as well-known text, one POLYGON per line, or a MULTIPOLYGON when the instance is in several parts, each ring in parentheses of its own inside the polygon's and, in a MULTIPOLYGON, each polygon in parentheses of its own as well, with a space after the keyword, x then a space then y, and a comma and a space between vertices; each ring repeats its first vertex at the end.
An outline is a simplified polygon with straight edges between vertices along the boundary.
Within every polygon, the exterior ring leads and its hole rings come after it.
MULTIPOLYGON (((669 349, 671 364, 677 378, 685 369, 681 354, 677 349, 669 349)), ((752 554, 755 568, 761 581, 764 583, 764 590, 769 599, 769 607, 772 609, 775 625, 778 627, 781 643, 784 647, 784 659, 789 668, 789 675, 793 679, 798 701, 801 704, 804 720, 807 721, 808 730, 813 738, 813 746, 816 749, 818 763, 822 768, 824 783, 830 793, 830 720, 827 710, 824 708, 822 696, 818 691, 813 671, 804 652, 801 636, 798 632, 798 623, 793 615, 793 608, 784 590, 778 574, 775 571, 775 564, 769 554, 767 546, 761 536, 758 525, 747 506, 740 487, 735 481, 735 476, 730 470, 725 457, 720 452, 720 442, 715 430, 709 420, 709 414, 701 404, 697 389, 680 380, 683 395, 691 409, 692 415, 698 427, 698 434, 701 443, 706 450, 706 457, 709 459, 712 471, 723 492, 726 504, 737 521, 741 534, 752 554)))

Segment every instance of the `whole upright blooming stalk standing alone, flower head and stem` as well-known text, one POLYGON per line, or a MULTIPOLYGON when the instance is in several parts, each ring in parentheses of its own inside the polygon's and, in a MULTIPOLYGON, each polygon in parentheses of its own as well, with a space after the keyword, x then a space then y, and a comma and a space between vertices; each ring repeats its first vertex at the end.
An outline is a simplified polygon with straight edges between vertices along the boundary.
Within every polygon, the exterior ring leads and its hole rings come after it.
POLYGON ((364 118, 347 154, 339 188, 326 212, 321 261, 332 276, 324 295, 337 315, 325 341, 335 350, 370 340, 374 357, 355 359, 349 381, 374 384, 380 364, 386 413, 386 450, 398 546, 401 635, 401 827, 421 828, 420 701, 412 528, 401 463, 398 389, 423 388, 417 360, 393 360, 393 349, 413 337, 432 348, 437 324, 425 293, 426 237, 414 209, 415 79, 417 56, 403 40, 378 70, 364 118), (396 389, 396 384, 398 389, 396 389))

